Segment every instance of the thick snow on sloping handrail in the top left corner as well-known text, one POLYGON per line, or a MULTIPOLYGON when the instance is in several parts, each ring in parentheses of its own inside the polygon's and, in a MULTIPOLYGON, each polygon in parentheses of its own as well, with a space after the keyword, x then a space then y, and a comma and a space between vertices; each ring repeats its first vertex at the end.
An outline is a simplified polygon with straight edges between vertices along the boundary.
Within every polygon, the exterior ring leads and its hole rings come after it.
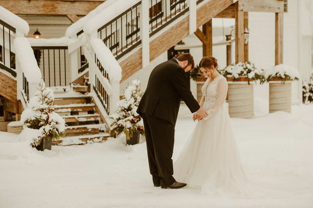
POLYGON ((27 35, 29 32, 29 26, 25 20, 13 14, 12 12, 10 12, 9 10, 2 6, 0 6, 0 19, 8 23, 15 29, 22 31, 25 35, 27 35))

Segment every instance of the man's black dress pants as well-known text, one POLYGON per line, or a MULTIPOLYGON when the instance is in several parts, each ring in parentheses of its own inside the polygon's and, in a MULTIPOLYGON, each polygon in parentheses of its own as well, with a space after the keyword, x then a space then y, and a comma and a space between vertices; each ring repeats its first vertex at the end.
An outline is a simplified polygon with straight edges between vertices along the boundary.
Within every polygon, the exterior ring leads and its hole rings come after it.
POLYGON ((153 184, 170 186, 173 177, 174 125, 167 120, 142 113, 153 184))

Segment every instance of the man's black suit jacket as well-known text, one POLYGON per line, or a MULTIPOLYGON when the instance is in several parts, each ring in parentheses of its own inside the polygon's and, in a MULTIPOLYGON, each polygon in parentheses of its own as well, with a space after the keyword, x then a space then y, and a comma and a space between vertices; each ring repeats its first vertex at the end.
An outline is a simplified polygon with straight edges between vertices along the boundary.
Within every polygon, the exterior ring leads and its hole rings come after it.
POLYGON ((171 59, 152 70, 137 112, 165 119, 175 126, 181 99, 192 113, 200 108, 187 87, 185 71, 177 60, 171 59))

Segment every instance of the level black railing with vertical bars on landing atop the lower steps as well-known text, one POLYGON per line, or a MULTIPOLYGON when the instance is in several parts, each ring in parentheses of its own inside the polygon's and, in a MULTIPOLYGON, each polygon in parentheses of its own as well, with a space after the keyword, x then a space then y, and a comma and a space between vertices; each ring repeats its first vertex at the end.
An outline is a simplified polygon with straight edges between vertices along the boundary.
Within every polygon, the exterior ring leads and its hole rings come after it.
POLYGON ((32 48, 34 51, 40 51, 35 58, 47 86, 69 84, 70 67, 67 46, 32 46, 32 48))

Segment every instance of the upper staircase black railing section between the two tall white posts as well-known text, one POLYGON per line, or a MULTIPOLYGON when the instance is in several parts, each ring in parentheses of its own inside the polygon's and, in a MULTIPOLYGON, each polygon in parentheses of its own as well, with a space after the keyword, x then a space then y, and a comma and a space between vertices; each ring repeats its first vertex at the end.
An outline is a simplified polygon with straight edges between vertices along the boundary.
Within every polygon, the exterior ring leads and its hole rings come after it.
POLYGON ((163 7, 157 0, 151 0, 151 5, 153 6, 149 9, 150 37, 189 11, 187 0, 164 0, 163 7))

